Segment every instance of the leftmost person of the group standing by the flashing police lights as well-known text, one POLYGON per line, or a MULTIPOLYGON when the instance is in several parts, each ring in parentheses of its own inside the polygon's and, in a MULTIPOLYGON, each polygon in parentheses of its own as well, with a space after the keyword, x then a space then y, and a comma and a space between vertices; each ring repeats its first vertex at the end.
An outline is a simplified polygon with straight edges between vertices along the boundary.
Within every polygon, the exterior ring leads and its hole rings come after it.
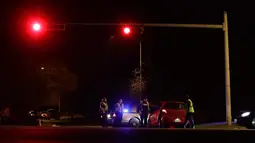
POLYGON ((108 126, 107 112, 108 112, 108 104, 107 104, 107 99, 104 97, 102 98, 100 102, 100 106, 99 106, 99 113, 100 113, 102 127, 108 126))

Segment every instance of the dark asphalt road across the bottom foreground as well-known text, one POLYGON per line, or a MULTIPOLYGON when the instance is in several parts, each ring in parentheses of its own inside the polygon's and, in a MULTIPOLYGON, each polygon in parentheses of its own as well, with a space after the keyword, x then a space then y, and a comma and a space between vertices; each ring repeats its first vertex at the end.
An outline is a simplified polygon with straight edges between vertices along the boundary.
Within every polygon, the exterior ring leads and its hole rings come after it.
POLYGON ((254 142, 255 130, 0 126, 2 143, 254 142))

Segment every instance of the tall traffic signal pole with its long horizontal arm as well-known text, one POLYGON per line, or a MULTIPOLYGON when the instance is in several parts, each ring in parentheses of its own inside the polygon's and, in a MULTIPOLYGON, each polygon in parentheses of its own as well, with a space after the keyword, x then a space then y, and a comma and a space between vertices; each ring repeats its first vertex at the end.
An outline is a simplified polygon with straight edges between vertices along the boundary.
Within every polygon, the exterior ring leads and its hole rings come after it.
MULTIPOLYGON (((66 23, 65 25, 83 25, 83 26, 133 26, 133 27, 173 27, 173 28, 205 28, 222 29, 224 31, 224 52, 225 52, 225 97, 226 97, 226 121, 228 125, 232 124, 231 115, 231 89, 230 89, 230 66, 229 66, 229 42, 228 42, 228 18, 227 12, 224 12, 223 24, 169 24, 169 23, 66 23)), ((141 41, 140 41, 141 42, 141 41)), ((141 43, 140 43, 141 47, 141 43)), ((141 49, 141 48, 140 48, 141 49)), ((141 52, 140 52, 141 61, 141 52)), ((141 68, 141 62, 140 62, 141 68)))

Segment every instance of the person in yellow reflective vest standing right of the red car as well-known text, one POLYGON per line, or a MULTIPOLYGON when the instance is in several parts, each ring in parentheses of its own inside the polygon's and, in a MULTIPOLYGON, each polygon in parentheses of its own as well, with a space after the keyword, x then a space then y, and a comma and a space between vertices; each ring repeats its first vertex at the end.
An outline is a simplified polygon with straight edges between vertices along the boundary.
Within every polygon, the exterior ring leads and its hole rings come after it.
POLYGON ((186 120, 185 120, 184 128, 186 128, 188 124, 190 128, 195 128, 194 113, 195 113, 195 110, 194 110, 193 102, 189 98, 189 95, 186 95, 186 120))

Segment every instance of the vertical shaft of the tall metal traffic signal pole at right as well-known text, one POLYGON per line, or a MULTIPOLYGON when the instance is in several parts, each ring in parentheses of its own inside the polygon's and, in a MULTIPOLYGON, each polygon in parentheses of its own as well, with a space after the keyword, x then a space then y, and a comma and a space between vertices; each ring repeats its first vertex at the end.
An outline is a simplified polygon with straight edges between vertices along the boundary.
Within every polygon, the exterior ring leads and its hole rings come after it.
POLYGON ((232 124, 231 115, 231 90, 230 90, 230 66, 229 66, 229 43, 228 43, 228 16, 224 12, 224 49, 225 49, 225 94, 226 94, 226 121, 228 125, 232 124))

